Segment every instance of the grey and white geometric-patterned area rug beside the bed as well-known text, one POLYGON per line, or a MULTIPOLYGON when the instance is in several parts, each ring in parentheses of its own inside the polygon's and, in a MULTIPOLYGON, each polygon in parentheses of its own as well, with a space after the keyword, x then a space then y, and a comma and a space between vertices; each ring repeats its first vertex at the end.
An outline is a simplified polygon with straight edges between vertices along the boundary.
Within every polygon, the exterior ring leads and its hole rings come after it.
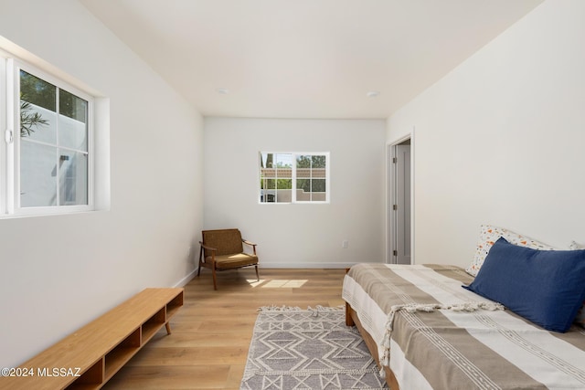
POLYGON ((240 390, 388 389, 342 308, 262 308, 240 390))

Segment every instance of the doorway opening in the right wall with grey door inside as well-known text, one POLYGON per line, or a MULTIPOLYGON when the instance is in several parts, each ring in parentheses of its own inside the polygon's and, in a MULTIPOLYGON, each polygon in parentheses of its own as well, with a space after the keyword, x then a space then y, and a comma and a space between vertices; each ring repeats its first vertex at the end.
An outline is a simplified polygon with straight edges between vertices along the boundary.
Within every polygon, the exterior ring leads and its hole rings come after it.
POLYGON ((411 138, 388 145, 388 259, 412 264, 411 138))

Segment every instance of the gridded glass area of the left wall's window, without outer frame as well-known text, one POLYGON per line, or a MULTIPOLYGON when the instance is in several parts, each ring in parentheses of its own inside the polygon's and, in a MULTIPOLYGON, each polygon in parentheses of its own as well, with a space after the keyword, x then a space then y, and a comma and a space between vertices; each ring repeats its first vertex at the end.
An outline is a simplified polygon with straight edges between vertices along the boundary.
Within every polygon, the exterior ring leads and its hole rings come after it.
POLYGON ((88 100, 19 71, 20 207, 88 205, 88 100))

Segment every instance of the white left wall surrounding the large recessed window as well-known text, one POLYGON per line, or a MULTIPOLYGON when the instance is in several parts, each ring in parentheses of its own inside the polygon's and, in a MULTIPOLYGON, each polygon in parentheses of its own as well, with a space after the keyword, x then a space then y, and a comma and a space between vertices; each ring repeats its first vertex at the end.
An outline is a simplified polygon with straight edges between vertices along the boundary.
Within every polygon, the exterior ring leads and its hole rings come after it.
POLYGON ((110 99, 111 207, 0 219, 0 367, 195 268, 203 120, 74 0, 0 0, 0 36, 110 99))

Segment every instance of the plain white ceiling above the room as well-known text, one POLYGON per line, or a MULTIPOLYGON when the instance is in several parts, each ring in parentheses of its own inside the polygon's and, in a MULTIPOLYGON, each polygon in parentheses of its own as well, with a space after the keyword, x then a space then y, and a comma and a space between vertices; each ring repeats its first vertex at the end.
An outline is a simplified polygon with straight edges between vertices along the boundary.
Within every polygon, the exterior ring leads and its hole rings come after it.
POLYGON ((205 116, 386 119, 542 1, 80 3, 205 116))

